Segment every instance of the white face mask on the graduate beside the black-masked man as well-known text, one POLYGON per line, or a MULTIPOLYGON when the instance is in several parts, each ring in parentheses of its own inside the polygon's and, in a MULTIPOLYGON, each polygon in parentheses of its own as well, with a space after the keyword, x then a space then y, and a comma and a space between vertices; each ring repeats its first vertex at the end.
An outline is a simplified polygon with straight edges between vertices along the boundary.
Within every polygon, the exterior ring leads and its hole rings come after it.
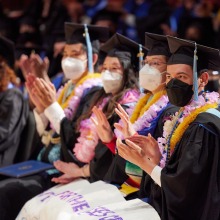
POLYGON ((148 64, 145 64, 143 68, 139 71, 140 87, 147 89, 151 92, 155 91, 162 83, 163 73, 161 73, 155 67, 151 67, 148 64))

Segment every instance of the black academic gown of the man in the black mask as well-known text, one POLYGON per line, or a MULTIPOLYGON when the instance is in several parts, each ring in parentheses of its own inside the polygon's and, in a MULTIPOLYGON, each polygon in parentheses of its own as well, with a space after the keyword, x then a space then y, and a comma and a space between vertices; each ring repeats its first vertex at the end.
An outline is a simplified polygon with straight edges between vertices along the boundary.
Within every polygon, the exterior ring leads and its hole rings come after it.
POLYGON ((220 219, 220 118, 201 113, 161 172, 162 220, 220 219))

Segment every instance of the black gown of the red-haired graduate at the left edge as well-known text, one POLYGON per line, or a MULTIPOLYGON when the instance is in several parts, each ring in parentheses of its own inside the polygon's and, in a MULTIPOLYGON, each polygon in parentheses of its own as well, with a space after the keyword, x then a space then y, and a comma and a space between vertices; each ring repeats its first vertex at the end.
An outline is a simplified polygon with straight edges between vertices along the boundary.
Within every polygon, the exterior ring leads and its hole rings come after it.
POLYGON ((0 92, 0 167, 14 162, 28 112, 28 102, 19 90, 0 92))

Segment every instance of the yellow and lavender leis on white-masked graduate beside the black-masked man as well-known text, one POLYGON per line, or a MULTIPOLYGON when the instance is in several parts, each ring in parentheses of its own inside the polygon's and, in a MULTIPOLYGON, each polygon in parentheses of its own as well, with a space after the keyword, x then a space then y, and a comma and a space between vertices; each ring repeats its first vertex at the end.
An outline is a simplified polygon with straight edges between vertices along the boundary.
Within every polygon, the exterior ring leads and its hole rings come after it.
MULTIPOLYGON (((146 127, 150 127, 151 122, 157 117, 158 112, 160 112, 169 102, 165 90, 154 94, 152 99, 146 104, 146 101, 149 100, 150 96, 151 94, 148 93, 139 99, 130 117, 130 121, 133 122, 133 128, 135 131, 141 131, 146 127)), ((122 121, 120 120, 119 124, 121 123, 122 121)), ((115 135, 124 139, 121 132, 117 129, 115 129, 115 135)))

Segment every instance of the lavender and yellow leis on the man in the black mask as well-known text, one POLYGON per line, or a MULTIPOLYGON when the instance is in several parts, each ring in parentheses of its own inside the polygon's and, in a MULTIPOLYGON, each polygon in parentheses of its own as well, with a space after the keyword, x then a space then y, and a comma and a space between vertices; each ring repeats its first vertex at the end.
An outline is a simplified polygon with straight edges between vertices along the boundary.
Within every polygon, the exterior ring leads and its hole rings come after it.
POLYGON ((182 138, 184 132, 196 117, 210 108, 217 108, 219 94, 211 92, 199 96, 198 101, 192 100, 170 119, 167 119, 163 127, 163 137, 158 138, 158 145, 162 154, 160 166, 163 168, 176 144, 182 138))

